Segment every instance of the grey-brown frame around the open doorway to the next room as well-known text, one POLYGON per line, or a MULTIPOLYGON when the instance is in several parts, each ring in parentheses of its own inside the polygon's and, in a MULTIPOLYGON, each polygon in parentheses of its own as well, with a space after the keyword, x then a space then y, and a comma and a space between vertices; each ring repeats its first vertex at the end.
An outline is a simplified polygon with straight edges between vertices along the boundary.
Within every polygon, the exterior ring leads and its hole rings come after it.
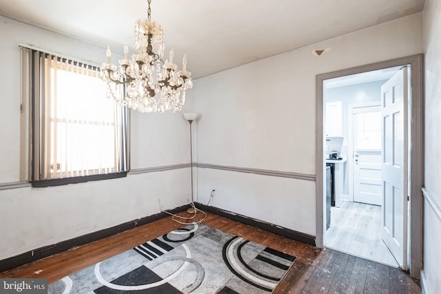
POLYGON ((412 277, 419 278, 422 270, 423 248, 423 160, 424 160, 424 88, 423 88, 423 54, 416 54, 389 61, 380 61, 368 65, 351 67, 336 72, 318 74, 316 76, 316 246, 323 248, 323 235, 326 231, 325 222, 325 132, 323 132, 324 96, 323 81, 329 78, 360 74, 388 67, 411 65, 411 110, 409 140, 409 191, 410 191, 410 222, 409 222, 409 266, 412 277))

